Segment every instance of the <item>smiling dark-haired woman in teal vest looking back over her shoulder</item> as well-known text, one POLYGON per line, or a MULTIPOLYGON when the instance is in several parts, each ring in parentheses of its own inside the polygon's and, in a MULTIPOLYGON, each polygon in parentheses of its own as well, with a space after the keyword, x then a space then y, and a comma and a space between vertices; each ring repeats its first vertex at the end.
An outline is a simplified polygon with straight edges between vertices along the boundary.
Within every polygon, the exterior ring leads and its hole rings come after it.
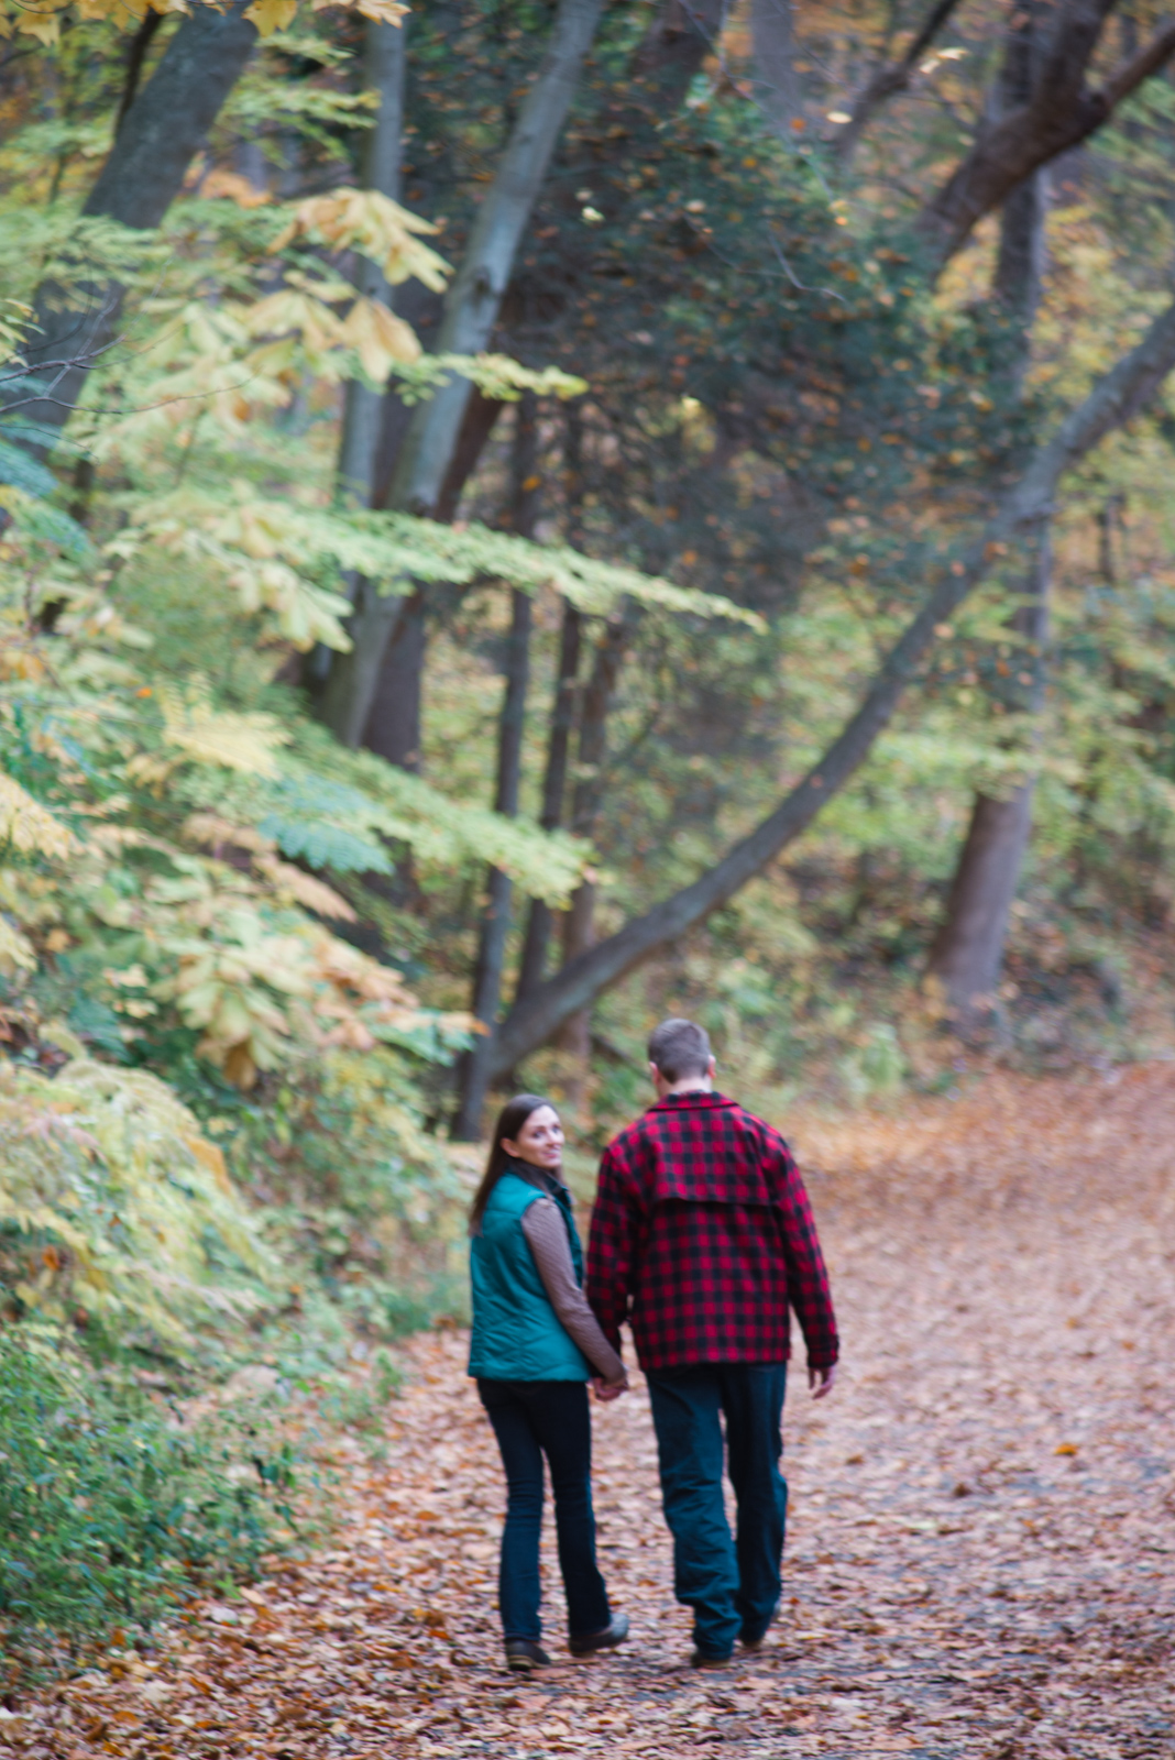
POLYGON ((470 1375, 477 1376, 507 1471, 498 1605, 507 1667, 521 1674, 551 1667, 538 1642, 544 1454, 554 1491, 568 1649, 588 1656, 628 1637, 628 1619, 609 1609, 596 1566, 586 1385, 593 1382, 598 1399, 616 1399, 628 1380, 580 1290, 582 1251, 561 1167, 559 1114, 538 1095, 515 1095, 494 1125, 489 1165, 470 1214, 470 1375))

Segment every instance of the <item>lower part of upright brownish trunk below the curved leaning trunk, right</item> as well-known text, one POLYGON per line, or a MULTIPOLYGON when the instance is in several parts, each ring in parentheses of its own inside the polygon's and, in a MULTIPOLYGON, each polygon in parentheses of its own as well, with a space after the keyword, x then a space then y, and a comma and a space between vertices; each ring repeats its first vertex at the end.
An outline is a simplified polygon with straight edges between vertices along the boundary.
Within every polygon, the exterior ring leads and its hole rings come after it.
MULTIPOLYGON (((1033 644, 1033 683, 1017 708, 1036 715, 1045 706, 1050 572, 1052 554, 1045 530, 1029 583, 1031 602, 1015 618, 1017 628, 1033 644)), ((1033 834, 1034 792, 1036 778, 1029 778, 1008 799, 987 794, 974 797, 946 915, 927 961, 927 973, 941 984, 952 1024, 962 1038, 976 1038, 999 1021, 999 973, 1008 917, 1033 834)))

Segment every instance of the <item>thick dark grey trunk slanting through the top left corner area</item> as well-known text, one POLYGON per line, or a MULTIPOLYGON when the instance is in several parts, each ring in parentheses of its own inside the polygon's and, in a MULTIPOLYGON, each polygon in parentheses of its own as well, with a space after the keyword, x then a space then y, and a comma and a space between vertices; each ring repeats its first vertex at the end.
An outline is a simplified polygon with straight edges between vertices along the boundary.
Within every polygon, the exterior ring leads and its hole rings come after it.
MULTIPOLYGON (((225 12, 197 5, 183 21, 121 118, 84 216, 100 215, 139 232, 162 222, 257 42, 246 5, 234 0, 225 12)), ((21 419, 39 429, 30 436, 33 451, 53 451, 86 373, 114 338, 121 299, 116 282, 69 292, 53 283, 40 289, 30 331, 39 340, 26 350, 30 377, 5 396, 7 408, 19 407, 21 419), (81 308, 67 304, 77 297, 81 308)))

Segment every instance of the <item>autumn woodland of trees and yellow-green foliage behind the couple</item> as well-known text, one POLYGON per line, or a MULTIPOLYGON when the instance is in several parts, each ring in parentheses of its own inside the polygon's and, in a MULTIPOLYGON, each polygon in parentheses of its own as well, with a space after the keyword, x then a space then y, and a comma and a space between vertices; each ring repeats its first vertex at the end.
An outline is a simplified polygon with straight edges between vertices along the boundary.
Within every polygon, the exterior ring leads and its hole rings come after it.
POLYGON ((401 11, 0 25, 14 1670, 290 1540, 201 1389, 362 1424, 503 1086, 1175 1051, 1175 25, 401 11))

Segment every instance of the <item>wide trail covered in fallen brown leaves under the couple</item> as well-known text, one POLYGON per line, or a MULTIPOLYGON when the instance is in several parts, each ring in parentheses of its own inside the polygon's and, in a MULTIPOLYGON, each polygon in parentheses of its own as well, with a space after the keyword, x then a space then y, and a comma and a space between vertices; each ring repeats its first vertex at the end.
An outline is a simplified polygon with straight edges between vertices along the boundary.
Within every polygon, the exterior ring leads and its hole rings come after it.
MULTIPOLYGON (((795 1123, 795 1121, 793 1121, 795 1123)), ((329 1551, 18 1705, 53 1760, 1175 1753, 1175 1070, 1027 1082, 793 1139, 846 1341, 793 1375, 783 1619, 684 1665, 640 1385, 595 1408, 602 1558, 631 1640, 573 1663, 547 1524, 540 1683, 501 1670, 501 1485, 464 1339, 408 1352, 387 1459, 343 1459, 329 1551)))

